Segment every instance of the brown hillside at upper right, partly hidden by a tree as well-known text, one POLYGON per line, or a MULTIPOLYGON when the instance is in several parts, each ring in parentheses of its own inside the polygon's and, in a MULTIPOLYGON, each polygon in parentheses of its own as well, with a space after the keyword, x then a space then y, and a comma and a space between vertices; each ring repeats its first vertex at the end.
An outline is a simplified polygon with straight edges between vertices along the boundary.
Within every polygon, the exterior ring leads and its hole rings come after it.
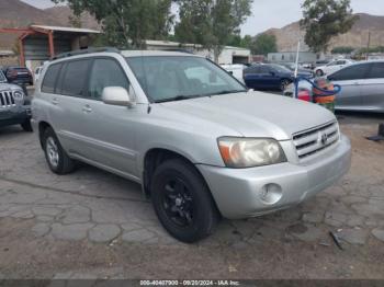
MULTIPOLYGON (((334 38, 330 48, 350 46, 354 48, 366 47, 369 32, 371 32, 371 46, 384 46, 384 16, 360 13, 360 18, 353 27, 346 34, 334 38)), ((302 50, 308 50, 304 43, 305 32, 301 30, 300 22, 294 22, 282 28, 270 28, 264 33, 273 34, 278 39, 280 51, 296 50, 297 42, 302 38, 302 50)))

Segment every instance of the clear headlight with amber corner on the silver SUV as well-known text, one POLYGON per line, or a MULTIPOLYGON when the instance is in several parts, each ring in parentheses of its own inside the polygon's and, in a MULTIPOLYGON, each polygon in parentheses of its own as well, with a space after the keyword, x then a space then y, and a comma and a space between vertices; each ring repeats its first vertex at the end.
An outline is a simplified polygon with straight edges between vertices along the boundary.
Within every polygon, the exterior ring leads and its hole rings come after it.
POLYGON ((223 137, 218 139, 218 148, 228 168, 245 169, 286 161, 274 139, 223 137))

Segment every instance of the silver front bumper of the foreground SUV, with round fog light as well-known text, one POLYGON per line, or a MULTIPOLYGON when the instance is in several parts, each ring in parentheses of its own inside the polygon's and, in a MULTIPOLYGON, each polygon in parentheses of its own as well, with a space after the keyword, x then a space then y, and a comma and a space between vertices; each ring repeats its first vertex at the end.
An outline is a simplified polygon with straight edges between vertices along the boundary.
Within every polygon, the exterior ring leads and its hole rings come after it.
POLYGON ((336 183, 351 164, 351 145, 347 137, 332 149, 305 164, 290 162, 252 169, 227 169, 197 164, 216 205, 226 218, 260 216, 297 205, 336 183), (267 185, 281 187, 281 198, 263 200, 267 185))

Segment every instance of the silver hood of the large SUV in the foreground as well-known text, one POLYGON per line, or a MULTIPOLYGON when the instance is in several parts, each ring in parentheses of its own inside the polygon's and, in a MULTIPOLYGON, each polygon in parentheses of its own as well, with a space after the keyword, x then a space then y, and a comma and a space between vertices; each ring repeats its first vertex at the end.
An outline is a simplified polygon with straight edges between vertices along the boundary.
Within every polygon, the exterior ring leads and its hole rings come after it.
POLYGON ((212 126, 212 133, 218 136, 289 140, 297 131, 336 119, 332 113, 318 105, 261 92, 205 96, 160 105, 167 110, 163 112, 168 116, 196 128, 203 125, 204 130, 212 126), (228 135, 228 130, 234 134, 228 135))

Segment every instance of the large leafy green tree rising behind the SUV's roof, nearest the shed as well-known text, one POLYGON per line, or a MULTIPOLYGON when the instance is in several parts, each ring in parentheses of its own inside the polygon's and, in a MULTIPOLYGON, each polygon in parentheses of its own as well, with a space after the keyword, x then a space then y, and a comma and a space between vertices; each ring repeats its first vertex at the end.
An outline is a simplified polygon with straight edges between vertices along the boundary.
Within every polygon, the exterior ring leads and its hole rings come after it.
POLYGON ((88 11, 102 24, 103 39, 120 48, 143 48, 147 38, 165 38, 171 28, 172 0, 52 0, 66 2, 75 16, 88 11))

